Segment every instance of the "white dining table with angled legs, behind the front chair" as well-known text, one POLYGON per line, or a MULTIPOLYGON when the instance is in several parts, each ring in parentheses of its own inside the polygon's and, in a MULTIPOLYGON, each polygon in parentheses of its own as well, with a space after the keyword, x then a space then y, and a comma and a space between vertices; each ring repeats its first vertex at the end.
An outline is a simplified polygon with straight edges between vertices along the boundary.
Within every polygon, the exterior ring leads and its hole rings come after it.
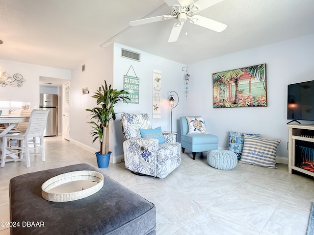
MULTIPOLYGON (((20 115, 0 115, 0 124, 3 124, 5 129, 0 130, 0 142, 1 142, 1 136, 7 134, 9 131, 11 131, 18 123, 20 122, 28 122, 29 121, 28 116, 20 116, 20 115)), ((0 150, 2 144, 0 144, 0 150)), ((11 152, 6 150, 6 154, 10 154, 11 152)), ((19 157, 15 154, 11 154, 10 157, 13 161, 19 161, 19 157)))

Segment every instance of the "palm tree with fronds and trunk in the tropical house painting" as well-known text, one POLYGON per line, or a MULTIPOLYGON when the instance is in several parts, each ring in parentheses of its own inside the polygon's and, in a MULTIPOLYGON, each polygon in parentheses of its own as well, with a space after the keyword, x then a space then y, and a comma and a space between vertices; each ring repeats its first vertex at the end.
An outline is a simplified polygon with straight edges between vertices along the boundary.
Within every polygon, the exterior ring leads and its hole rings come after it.
POLYGON ((256 65, 250 66, 246 68, 217 72, 213 74, 213 85, 226 84, 226 83, 235 83, 235 95, 233 104, 237 104, 238 102, 238 94, 239 94, 239 81, 241 76, 248 72, 251 74, 251 79, 257 78, 259 82, 263 83, 264 90, 266 90, 266 65, 256 65))

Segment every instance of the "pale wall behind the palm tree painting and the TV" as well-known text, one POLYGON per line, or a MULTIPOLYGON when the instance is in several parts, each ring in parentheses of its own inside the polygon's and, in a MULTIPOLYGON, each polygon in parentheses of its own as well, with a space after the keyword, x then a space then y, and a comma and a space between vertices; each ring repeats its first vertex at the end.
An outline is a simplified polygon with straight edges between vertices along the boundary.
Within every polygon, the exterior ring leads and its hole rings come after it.
POLYGON ((207 128, 219 137, 221 148, 228 148, 229 131, 259 133, 282 140, 277 156, 288 158, 287 85, 314 79, 313 42, 314 34, 189 65, 190 99, 186 114, 205 116, 207 128), (213 109, 212 73, 263 63, 267 107, 213 109))

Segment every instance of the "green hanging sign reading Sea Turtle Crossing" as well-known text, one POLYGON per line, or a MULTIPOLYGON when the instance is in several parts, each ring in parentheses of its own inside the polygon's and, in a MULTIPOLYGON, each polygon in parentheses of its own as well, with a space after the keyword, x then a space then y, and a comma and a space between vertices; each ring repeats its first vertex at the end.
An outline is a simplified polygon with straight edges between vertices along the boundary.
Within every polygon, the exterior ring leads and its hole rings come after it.
MULTIPOLYGON (((137 77, 133 66, 130 66, 126 75, 123 76, 123 90, 129 92, 129 98, 131 99, 128 101, 129 104, 138 104, 139 101, 139 77, 137 77), (130 69, 132 68, 135 77, 128 76, 130 69)), ((126 101, 123 101, 126 103, 126 101)))

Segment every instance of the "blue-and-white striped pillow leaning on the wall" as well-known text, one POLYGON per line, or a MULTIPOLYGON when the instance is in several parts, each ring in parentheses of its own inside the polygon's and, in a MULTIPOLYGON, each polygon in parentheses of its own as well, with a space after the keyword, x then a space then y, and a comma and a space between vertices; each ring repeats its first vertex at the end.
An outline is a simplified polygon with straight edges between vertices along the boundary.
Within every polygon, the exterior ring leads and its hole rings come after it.
POLYGON ((276 152, 281 140, 244 135, 244 147, 240 163, 277 169, 276 152))

